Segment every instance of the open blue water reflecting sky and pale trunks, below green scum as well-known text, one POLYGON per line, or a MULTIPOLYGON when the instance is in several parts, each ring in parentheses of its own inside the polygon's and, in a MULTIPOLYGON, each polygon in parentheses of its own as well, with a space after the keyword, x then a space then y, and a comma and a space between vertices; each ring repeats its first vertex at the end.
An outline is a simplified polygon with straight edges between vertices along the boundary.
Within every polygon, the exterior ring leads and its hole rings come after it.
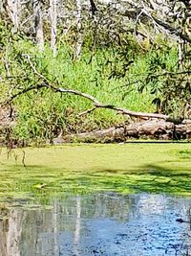
POLYGON ((191 198, 105 193, 65 195, 50 204, 1 205, 1 256, 191 253, 191 198))

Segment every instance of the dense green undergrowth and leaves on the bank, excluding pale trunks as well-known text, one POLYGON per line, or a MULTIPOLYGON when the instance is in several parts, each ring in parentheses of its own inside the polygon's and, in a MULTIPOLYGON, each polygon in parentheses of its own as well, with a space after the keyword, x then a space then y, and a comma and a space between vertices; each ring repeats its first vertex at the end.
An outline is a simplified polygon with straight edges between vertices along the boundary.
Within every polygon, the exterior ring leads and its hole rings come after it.
MULTIPOLYGON (((50 45, 48 19, 43 25, 42 50, 34 40, 29 21, 30 25, 14 31, 15 24, 5 11, 1 12, 0 102, 2 111, 16 120, 9 128, 11 136, 28 142, 50 141, 61 132, 108 128, 125 121, 124 116, 107 109, 78 115, 89 109, 91 103, 79 96, 41 87, 45 80, 54 87, 93 95, 104 104, 189 118, 191 50, 187 34, 190 17, 186 13, 190 6, 180 3, 179 12, 185 16, 179 28, 184 34, 177 36, 176 31, 170 35, 159 30, 156 33, 145 16, 138 23, 140 13, 129 17, 127 29, 116 7, 97 1, 99 12, 80 12, 80 26, 68 25, 67 33, 63 33, 62 20, 58 19, 56 52, 50 45), (96 18, 91 19, 93 14, 96 18)), ((74 7, 76 4, 70 2, 68 10, 74 7)), ((176 19, 174 24, 177 22, 176 19)))

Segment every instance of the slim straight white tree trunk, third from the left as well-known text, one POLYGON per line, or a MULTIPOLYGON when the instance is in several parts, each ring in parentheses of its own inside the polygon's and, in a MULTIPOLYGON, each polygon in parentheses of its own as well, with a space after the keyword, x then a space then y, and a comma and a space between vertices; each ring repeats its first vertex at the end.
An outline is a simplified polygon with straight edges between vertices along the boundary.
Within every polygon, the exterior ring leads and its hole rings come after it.
POLYGON ((53 56, 56 55, 56 27, 57 27, 57 0, 50 0, 50 19, 51 19, 51 48, 53 56))

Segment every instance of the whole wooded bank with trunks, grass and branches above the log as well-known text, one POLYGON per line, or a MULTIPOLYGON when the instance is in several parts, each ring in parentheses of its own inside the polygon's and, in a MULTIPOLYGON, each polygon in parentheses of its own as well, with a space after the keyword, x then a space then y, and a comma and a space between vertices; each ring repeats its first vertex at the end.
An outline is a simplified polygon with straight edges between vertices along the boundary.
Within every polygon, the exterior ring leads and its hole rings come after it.
POLYGON ((3 0, 0 18, 2 141, 191 118, 190 1, 3 0))

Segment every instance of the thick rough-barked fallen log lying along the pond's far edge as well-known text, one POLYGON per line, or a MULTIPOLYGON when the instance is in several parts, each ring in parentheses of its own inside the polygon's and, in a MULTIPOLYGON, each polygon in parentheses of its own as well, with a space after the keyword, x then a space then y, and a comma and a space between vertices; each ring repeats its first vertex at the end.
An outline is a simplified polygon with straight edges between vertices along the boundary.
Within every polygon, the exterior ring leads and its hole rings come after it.
POLYGON ((53 139, 53 144, 66 142, 125 142, 129 139, 180 140, 191 138, 191 122, 174 124, 165 120, 148 120, 91 132, 69 134, 53 139))

